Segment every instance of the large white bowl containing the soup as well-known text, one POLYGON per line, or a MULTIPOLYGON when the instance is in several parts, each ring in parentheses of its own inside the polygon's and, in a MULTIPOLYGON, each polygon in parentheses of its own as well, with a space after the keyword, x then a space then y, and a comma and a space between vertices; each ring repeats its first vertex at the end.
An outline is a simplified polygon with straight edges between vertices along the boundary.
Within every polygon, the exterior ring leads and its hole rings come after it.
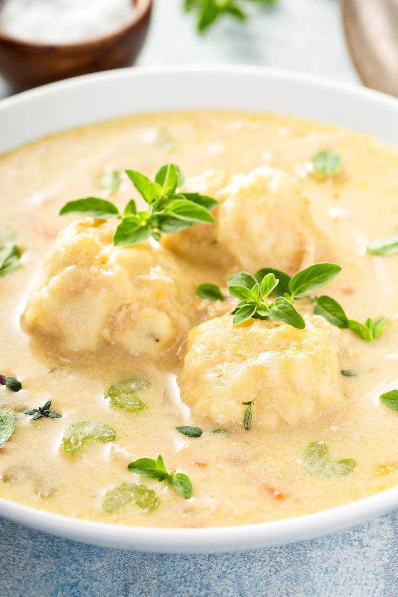
MULTIPOLYGON (((0 102, 0 153, 65 128, 129 113, 271 110, 343 125, 398 146, 398 100, 313 76, 257 67, 121 69, 46 85, 0 102)), ((300 541, 398 506, 398 488, 297 518, 219 528, 141 528, 58 516, 0 499, 0 515, 47 533, 153 552, 230 552, 300 541)))

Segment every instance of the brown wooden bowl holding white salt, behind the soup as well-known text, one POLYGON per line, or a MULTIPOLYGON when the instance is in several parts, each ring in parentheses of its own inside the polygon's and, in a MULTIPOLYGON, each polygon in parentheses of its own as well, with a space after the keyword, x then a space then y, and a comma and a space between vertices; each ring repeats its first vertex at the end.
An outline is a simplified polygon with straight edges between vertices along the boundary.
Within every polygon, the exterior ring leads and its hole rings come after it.
POLYGON ((0 30, 1 74, 14 91, 22 91, 58 79, 129 66, 144 43, 152 11, 152 0, 132 2, 135 11, 120 29, 72 44, 28 42, 0 30))

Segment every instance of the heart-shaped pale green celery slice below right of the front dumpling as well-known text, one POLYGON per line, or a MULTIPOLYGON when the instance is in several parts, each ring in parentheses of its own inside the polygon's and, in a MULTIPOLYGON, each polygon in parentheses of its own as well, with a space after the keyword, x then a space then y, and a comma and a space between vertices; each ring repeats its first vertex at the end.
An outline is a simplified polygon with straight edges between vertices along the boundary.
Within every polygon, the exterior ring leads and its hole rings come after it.
POLYGON ((303 466, 310 475, 332 479, 350 475, 356 467, 356 462, 352 458, 331 460, 329 448, 323 442, 311 442, 304 452, 303 466))

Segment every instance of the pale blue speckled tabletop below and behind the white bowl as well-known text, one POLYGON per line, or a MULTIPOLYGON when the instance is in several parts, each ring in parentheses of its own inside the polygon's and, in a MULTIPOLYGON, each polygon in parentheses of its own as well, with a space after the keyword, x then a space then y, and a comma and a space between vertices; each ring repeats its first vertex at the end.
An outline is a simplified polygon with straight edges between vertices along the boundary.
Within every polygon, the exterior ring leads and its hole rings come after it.
MULTIPOLYGON (((357 82, 337 0, 280 0, 204 38, 181 4, 156 0, 140 64, 264 64, 357 82)), ((0 519, 0 597, 397 597, 397 548, 398 513, 305 543, 200 556, 92 547, 0 519)))

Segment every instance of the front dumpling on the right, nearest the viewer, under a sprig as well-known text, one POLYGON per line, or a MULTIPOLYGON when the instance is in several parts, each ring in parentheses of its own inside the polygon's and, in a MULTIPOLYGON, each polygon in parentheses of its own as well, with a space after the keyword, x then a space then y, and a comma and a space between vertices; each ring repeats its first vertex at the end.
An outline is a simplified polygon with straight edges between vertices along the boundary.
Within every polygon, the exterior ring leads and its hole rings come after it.
POLYGON ((181 396, 196 417, 221 426, 242 423, 242 402, 257 396, 253 425, 268 428, 313 420, 344 402, 325 331, 258 319, 234 327, 230 315, 190 331, 181 396))

